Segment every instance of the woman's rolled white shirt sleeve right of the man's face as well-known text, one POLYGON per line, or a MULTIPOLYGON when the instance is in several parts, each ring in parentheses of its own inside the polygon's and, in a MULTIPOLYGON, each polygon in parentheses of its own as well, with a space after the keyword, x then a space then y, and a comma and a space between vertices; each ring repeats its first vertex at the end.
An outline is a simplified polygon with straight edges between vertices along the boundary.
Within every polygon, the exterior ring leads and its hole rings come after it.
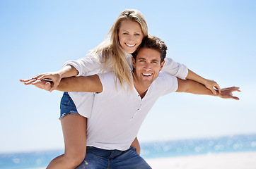
POLYGON ((171 58, 165 58, 165 64, 163 65, 162 72, 174 75, 180 79, 185 79, 187 77, 188 69, 186 65, 175 62, 171 58))

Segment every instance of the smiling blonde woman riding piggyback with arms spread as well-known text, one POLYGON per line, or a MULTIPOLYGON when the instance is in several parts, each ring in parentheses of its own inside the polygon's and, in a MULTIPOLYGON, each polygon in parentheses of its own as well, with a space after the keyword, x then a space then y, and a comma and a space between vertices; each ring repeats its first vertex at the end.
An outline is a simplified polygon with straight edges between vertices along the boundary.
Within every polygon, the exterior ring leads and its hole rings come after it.
MULTIPOLYGON (((21 80, 25 84, 31 84, 35 80, 49 79, 54 86, 52 92, 60 80, 64 77, 76 75, 92 75, 99 71, 114 71, 117 80, 121 84, 127 83, 132 87, 132 53, 136 51, 144 38, 148 36, 148 27, 144 15, 136 10, 125 10, 115 20, 109 37, 91 51, 88 56, 78 61, 68 61, 64 67, 54 73, 42 73, 30 80, 21 80)), ((175 63, 168 58, 165 60, 163 71, 180 78, 192 79, 201 82, 211 91, 213 87, 219 89, 219 85, 212 80, 206 80, 199 75, 187 70, 185 65, 175 63)), ((93 104, 93 94, 90 93, 64 93, 61 102, 61 123, 64 135, 65 152, 54 158, 47 168, 76 168, 86 156, 86 119, 93 104), (79 113, 79 114, 78 114, 79 113), (69 114, 69 115, 67 115, 69 114)), ((134 139, 131 146, 137 149, 139 154, 139 142, 134 139)))

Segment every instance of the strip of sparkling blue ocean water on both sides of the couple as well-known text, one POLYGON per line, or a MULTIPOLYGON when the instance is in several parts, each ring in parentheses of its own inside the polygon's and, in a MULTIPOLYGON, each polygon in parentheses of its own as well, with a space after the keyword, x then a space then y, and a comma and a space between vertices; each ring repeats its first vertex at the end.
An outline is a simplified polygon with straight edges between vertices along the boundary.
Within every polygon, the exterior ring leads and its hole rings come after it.
MULTIPOLYGON (((256 151, 256 134, 205 139, 182 139, 168 142, 141 143, 141 156, 161 158, 228 152, 256 151)), ((1 169, 45 168, 64 150, 0 154, 1 169)))

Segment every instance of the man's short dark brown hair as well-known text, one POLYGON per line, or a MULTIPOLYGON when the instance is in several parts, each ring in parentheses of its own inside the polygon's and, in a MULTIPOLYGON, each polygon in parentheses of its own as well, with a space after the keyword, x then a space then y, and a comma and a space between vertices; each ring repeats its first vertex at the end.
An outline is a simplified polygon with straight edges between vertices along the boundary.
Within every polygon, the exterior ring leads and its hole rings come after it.
POLYGON ((135 58, 135 61, 136 56, 139 53, 139 49, 141 48, 155 49, 156 51, 159 51, 161 54, 161 63, 165 60, 167 46, 165 42, 163 42, 160 38, 155 36, 146 37, 146 39, 144 39, 139 48, 132 54, 132 56, 135 58))

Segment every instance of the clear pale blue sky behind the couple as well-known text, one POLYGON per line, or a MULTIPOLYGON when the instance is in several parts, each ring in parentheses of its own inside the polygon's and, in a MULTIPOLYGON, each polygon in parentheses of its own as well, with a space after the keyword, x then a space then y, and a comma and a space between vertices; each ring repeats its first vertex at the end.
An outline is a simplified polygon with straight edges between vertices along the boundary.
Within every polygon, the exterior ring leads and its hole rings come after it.
POLYGON ((238 86, 240 101, 169 94, 141 127, 141 142, 256 133, 255 1, 0 1, 0 153, 63 149, 59 101, 18 80, 59 70, 103 41, 124 9, 146 17, 168 57, 238 86))

